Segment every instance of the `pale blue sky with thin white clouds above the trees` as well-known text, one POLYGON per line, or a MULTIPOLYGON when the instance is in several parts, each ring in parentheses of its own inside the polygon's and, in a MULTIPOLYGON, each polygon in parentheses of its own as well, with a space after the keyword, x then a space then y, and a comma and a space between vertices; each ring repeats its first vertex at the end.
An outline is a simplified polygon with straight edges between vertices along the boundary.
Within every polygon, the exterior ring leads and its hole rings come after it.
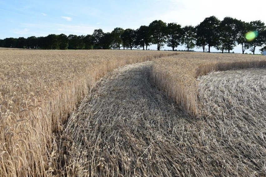
MULTIPOLYGON (((137 29, 153 20, 176 22, 181 26, 198 25, 204 18, 231 16, 242 21, 266 22, 266 1, 246 0, 96 0, 38 1, 0 0, 0 39, 7 37, 47 36, 48 34, 87 35, 101 28, 137 29)), ((155 49, 151 46, 150 49, 155 49)), ((165 47, 164 49, 169 49, 165 47)), ((185 49, 178 47, 177 49, 185 49)), ((196 49, 195 50, 201 50, 196 49)), ((214 49, 213 49, 214 51, 214 49)), ((241 52, 236 47, 235 52, 241 52)), ((248 50, 249 52, 249 50, 248 50)))

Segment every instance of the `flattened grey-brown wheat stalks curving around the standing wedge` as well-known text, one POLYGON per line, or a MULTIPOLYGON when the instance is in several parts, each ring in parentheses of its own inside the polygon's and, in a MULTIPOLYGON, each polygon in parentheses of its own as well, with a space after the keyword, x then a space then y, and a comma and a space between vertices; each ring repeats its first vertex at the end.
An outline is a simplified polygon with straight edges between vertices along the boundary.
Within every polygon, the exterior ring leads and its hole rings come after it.
POLYGON ((151 64, 97 82, 56 138, 55 174, 266 175, 265 69, 198 77, 202 116, 194 118, 156 88, 151 64))

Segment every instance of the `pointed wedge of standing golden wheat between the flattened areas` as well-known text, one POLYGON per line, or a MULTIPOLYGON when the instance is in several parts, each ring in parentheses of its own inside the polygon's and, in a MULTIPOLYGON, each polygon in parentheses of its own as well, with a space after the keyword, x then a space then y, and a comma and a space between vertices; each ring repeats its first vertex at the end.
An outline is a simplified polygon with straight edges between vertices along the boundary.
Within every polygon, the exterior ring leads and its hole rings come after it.
POLYGON ((193 116, 200 116, 197 104, 197 77, 212 71, 232 68, 265 67, 264 56, 243 54, 179 53, 155 60, 151 67, 155 84, 180 107, 193 116))

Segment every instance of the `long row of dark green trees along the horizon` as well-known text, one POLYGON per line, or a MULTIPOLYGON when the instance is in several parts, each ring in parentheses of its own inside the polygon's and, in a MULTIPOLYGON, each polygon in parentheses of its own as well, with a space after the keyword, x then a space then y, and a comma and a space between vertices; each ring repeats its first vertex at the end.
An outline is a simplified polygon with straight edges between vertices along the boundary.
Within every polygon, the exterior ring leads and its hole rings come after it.
POLYGON ((147 50, 151 44, 160 50, 164 45, 172 50, 183 45, 187 51, 194 47, 202 48, 203 52, 210 52, 214 47, 224 53, 230 53, 236 45, 242 46, 242 53, 250 49, 266 50, 266 26, 257 20, 244 22, 232 17, 225 17, 222 21, 215 16, 204 19, 197 26, 184 26, 155 20, 149 26, 138 29, 115 28, 111 33, 102 29, 94 30, 91 35, 50 34, 46 37, 31 36, 28 38, 5 38, 0 40, 0 47, 24 49, 143 49, 147 50), (247 36, 251 32, 251 38, 247 36), (207 48, 206 48, 207 47, 207 48))

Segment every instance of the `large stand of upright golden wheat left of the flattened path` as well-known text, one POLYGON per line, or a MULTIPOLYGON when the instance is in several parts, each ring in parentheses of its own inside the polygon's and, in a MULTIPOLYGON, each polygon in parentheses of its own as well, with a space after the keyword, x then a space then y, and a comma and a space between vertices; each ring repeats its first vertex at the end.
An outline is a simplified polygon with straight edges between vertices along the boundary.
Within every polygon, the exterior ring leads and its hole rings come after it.
POLYGON ((157 51, 0 50, 0 176, 46 176, 53 133, 106 72, 157 51))

